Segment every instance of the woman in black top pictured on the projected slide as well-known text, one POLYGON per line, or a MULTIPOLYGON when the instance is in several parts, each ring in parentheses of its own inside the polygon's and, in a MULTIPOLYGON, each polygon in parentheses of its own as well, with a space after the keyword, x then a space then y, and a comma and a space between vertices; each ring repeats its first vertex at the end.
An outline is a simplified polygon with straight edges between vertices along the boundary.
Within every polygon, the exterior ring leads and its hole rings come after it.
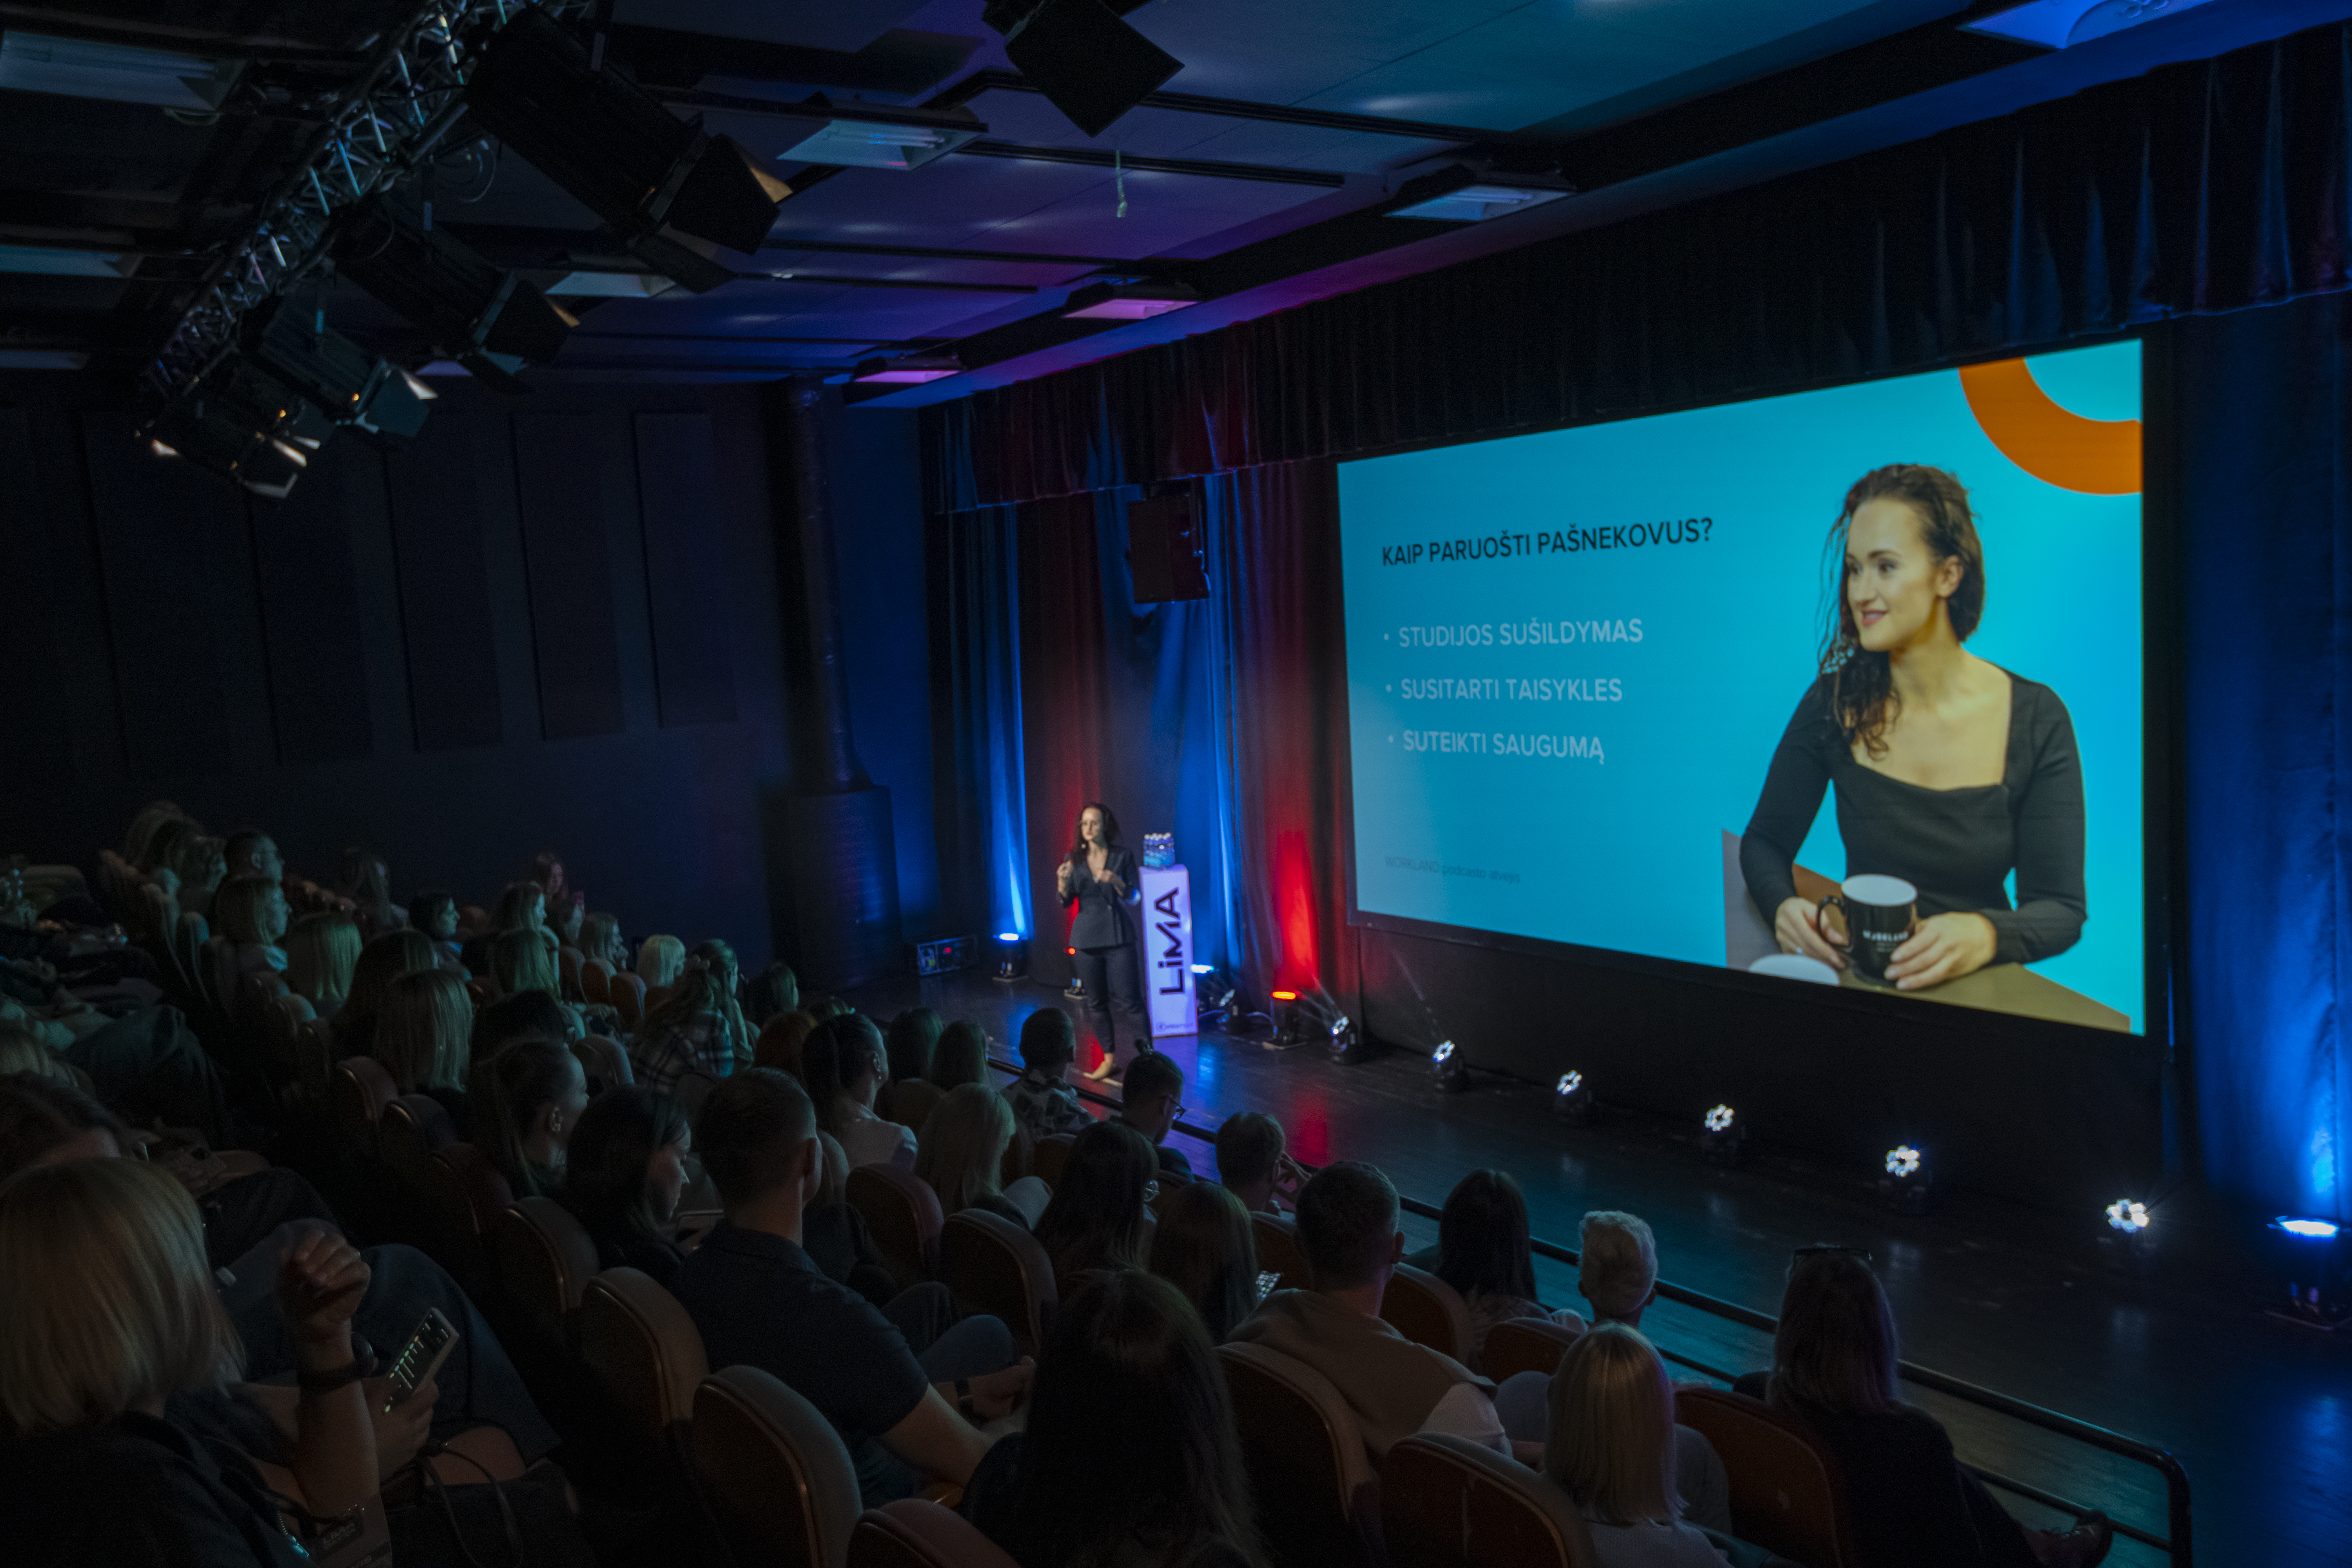
POLYGON ((1830 543, 1844 592, 1820 675, 1740 842, 1757 910, 1783 952, 1846 966, 1792 875, 1820 792, 1837 785, 1846 877, 1919 891, 1919 924, 1886 966, 1898 990, 2065 952, 2086 914, 2074 724, 2056 691, 1962 646, 1985 614, 1969 491, 1940 468, 1877 468, 1846 491, 1830 543))

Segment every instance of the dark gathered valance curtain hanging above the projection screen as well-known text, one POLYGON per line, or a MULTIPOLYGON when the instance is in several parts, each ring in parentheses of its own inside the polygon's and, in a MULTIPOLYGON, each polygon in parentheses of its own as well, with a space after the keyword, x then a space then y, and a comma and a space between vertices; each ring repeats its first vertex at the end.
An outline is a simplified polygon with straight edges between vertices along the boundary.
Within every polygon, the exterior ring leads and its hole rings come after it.
POLYGON ((924 411, 931 510, 1924 369, 2319 294, 2333 24, 924 411))

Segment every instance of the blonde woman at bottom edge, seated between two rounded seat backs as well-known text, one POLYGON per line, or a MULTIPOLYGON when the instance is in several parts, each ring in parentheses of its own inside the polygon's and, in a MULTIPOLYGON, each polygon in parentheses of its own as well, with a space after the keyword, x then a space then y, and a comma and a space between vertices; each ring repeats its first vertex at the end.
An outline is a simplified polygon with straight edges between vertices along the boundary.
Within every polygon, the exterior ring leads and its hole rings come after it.
POLYGON ((1682 1523, 1675 1432, 1675 1385, 1639 1331, 1602 1324, 1562 1356, 1543 1474, 1585 1516, 1599 1568, 1724 1568, 1682 1523))

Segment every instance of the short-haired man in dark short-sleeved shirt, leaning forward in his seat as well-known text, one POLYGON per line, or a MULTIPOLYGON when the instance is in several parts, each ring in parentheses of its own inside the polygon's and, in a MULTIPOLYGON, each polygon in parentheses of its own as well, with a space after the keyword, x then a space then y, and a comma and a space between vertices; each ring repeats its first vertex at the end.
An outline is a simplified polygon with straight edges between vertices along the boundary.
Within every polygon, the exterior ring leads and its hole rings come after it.
POLYGON ((866 1507, 910 1497, 927 1476, 969 1481, 988 1450, 976 1422, 1028 1394, 1030 1366, 1014 1366, 1004 1324, 908 1333, 818 1274, 800 1239, 823 1157, 816 1107, 790 1077, 750 1067, 717 1084, 694 1133, 727 1218, 670 1288, 710 1366, 757 1366, 814 1403, 849 1446, 866 1507))

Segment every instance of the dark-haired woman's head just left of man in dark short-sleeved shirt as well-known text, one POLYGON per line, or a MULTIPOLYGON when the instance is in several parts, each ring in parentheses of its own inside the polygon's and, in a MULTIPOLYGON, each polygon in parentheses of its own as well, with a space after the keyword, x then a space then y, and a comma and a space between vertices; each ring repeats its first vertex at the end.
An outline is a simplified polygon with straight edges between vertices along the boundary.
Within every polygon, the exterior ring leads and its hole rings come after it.
POLYGON ((637 1084, 607 1088, 581 1112, 557 1197, 595 1241, 597 1267, 626 1265, 670 1284, 687 1258, 670 1222, 691 1147, 677 1100, 637 1084))

